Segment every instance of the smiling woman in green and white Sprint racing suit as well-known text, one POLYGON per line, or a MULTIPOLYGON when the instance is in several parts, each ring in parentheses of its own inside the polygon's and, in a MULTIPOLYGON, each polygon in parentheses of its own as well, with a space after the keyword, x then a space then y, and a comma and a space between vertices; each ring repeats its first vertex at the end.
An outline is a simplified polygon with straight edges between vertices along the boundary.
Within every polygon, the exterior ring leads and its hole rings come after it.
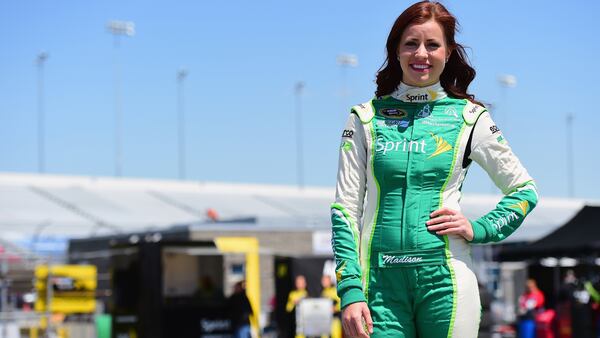
POLYGON ((477 337, 470 243, 496 242, 537 203, 535 184, 486 109, 439 3, 406 9, 387 40, 376 98, 342 134, 333 248, 351 337, 477 337), (505 196, 476 220, 460 211, 471 161, 505 196))

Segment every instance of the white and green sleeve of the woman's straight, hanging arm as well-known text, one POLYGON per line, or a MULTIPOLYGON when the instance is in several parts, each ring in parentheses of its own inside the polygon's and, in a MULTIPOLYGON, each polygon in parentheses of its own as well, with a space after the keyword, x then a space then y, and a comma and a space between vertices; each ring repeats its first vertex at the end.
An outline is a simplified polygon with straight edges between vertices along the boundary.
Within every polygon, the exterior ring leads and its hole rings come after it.
POLYGON ((366 301, 359 259, 359 228, 366 187, 365 129, 352 113, 342 133, 335 203, 331 205, 332 247, 341 307, 366 301))

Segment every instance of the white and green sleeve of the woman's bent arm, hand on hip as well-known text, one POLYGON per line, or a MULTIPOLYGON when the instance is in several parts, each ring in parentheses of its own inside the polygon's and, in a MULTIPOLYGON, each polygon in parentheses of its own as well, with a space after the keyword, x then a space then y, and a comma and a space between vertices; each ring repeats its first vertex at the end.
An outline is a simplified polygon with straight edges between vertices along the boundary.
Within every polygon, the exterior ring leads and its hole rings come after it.
POLYGON ((494 210, 471 221, 471 242, 498 242, 517 230, 535 208, 537 188, 488 112, 481 114, 473 128, 470 158, 487 172, 504 197, 494 210))

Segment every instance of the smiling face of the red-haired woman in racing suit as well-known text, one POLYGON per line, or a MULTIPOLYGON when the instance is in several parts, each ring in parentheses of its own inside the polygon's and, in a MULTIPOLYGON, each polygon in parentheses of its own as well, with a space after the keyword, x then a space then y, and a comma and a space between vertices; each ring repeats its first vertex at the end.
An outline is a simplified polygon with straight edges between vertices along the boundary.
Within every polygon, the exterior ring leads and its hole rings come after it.
POLYGON ((438 82, 449 55, 444 30, 435 20, 406 27, 398 45, 402 82, 418 87, 438 82))

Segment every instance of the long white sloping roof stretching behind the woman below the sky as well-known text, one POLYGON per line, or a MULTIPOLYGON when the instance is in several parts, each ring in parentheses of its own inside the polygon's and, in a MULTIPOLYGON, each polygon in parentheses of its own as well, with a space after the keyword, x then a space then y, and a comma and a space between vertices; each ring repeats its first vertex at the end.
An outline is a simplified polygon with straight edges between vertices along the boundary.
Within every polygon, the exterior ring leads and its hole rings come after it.
MULTIPOLYGON (((466 194, 461 206, 473 219, 500 198, 466 194)), ((333 199, 334 189, 323 187, 0 173, 0 236, 82 238, 174 225, 327 230, 333 199), (219 222, 213 222, 215 217, 219 222)), ((541 238, 585 204, 580 199, 542 198, 509 240, 541 238)))

